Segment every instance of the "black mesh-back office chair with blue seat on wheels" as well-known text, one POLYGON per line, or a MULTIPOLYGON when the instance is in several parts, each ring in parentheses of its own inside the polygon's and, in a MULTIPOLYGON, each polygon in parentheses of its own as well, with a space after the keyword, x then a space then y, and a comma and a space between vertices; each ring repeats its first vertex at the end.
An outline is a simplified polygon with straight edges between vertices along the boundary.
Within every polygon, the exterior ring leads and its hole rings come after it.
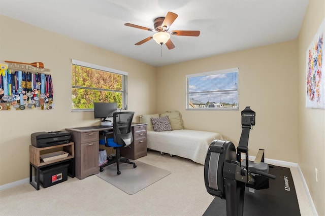
POLYGON ((104 135, 104 139, 100 139, 100 145, 105 145, 106 147, 113 147, 116 149, 116 158, 111 160, 108 159, 106 164, 100 166, 100 171, 102 172, 105 166, 111 165, 113 163, 117 164, 117 174, 121 174, 119 164, 120 162, 133 164, 133 168, 136 168, 137 165, 127 158, 120 157, 120 149, 128 147, 132 141, 132 130, 131 123, 133 120, 134 112, 119 112, 113 114, 113 137, 108 138, 108 134, 111 133, 109 130, 100 131, 104 135))

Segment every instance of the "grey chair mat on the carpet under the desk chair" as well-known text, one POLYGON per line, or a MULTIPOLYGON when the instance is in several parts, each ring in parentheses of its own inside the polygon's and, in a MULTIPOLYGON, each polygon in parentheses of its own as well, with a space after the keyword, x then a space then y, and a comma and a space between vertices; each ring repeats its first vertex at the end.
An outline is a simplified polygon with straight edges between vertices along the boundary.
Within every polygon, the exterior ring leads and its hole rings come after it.
POLYGON ((117 175, 117 165, 114 163, 104 167, 104 171, 97 176, 127 194, 135 194, 171 174, 170 171, 140 161, 136 161, 136 164, 137 167, 133 168, 132 164, 120 163, 121 174, 117 175))

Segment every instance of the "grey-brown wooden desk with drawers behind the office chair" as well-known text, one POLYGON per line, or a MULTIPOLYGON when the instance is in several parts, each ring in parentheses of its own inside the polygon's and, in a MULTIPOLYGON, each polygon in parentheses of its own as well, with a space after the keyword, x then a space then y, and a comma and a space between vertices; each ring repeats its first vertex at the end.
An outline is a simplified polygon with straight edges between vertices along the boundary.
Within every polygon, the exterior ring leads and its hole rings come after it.
MULTIPOLYGON (((75 143, 75 172, 79 179, 99 173, 99 131, 102 130, 113 130, 113 127, 66 128, 75 143)), ((132 132, 134 141, 129 146, 131 148, 124 148, 121 156, 136 160, 147 155, 147 124, 132 123, 132 132)))

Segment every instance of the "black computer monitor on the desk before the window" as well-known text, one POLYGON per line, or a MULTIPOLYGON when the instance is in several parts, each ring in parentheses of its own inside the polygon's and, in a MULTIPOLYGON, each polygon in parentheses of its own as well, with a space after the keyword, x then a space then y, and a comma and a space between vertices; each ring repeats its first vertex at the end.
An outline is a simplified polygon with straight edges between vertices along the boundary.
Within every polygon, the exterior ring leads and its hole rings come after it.
POLYGON ((113 117, 113 113, 117 111, 117 103, 107 102, 94 102, 93 103, 93 116, 95 119, 102 119, 103 122, 111 122, 106 120, 108 117, 113 117))

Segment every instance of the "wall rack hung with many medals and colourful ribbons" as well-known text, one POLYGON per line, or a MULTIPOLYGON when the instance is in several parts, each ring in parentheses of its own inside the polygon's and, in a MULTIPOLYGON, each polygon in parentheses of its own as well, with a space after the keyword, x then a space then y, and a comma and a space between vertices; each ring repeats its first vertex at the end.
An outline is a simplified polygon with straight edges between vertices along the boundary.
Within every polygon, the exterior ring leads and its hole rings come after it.
POLYGON ((44 73, 48 71, 41 62, 0 63, 0 110, 52 110, 52 78, 44 73))

